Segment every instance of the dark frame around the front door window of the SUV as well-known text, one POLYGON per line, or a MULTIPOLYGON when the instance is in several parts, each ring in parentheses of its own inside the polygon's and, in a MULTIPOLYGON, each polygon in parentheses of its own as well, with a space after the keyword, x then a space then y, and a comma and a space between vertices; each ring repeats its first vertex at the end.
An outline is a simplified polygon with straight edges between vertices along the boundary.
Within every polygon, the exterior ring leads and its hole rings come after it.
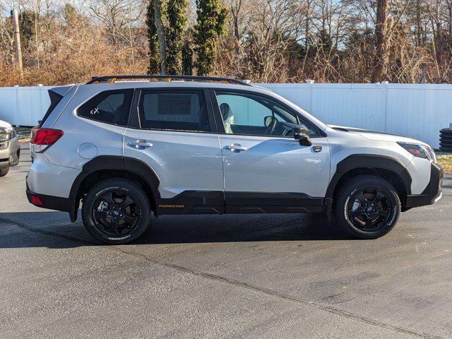
POLYGON ((284 107, 284 109, 286 109, 287 112, 294 114, 294 116, 297 117, 299 119, 299 121, 301 121, 300 124, 303 124, 303 121, 307 122, 308 124, 311 124, 311 126, 313 126, 314 129, 316 129, 317 135, 311 136, 310 138, 326 137, 326 133, 324 131, 322 131, 321 129, 319 129, 319 126, 317 126, 312 121, 307 119, 307 117, 304 117, 303 114, 300 114, 299 112, 295 111, 295 109, 292 109, 291 107, 288 107, 287 105, 285 105, 283 102, 280 102, 280 100, 276 99, 275 97, 272 97, 270 95, 266 95, 263 93, 256 93, 256 92, 253 92, 250 90, 235 90, 235 89, 231 90, 229 88, 224 88, 224 89, 223 88, 212 88, 212 89, 210 89, 210 97, 211 97, 213 109, 215 112, 215 121, 220 121, 220 123, 217 124, 218 134, 226 135, 226 136, 260 136, 263 138, 290 138, 290 139, 293 139, 292 136, 268 136, 268 135, 262 135, 262 134, 242 134, 242 133, 230 134, 230 133, 226 133, 225 126, 222 123, 220 106, 218 105, 218 101, 217 101, 217 92, 232 93, 232 95, 243 95, 245 97, 253 97, 253 96, 254 97, 263 97, 268 100, 272 100, 272 101, 276 102, 278 105, 280 105, 281 107, 284 107))

